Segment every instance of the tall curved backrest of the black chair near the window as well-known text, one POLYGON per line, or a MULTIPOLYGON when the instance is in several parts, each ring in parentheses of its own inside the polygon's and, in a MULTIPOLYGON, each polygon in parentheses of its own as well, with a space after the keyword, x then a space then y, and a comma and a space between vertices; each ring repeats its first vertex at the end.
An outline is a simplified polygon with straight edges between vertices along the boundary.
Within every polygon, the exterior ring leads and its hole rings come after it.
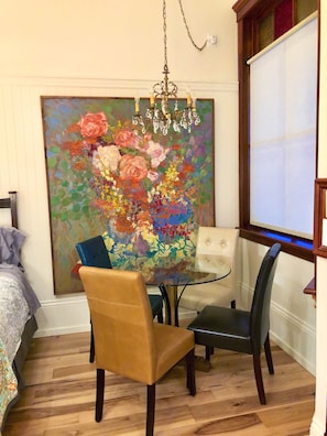
POLYGON ((265 341, 270 327, 270 303, 272 284, 277 266, 277 257, 281 251, 281 244, 274 243, 265 253, 260 271, 257 276, 257 283, 251 306, 251 336, 253 349, 260 351, 265 341))

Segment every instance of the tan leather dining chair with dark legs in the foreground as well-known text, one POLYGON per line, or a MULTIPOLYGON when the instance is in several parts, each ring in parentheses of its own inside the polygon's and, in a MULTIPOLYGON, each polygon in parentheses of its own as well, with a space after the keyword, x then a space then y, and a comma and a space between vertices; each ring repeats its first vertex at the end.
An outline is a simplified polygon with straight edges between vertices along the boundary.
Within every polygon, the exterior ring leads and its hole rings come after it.
POLYGON ((186 358, 187 388, 195 395, 194 334, 153 323, 143 276, 137 271, 81 266, 95 337, 96 421, 102 418, 105 370, 148 384, 146 435, 153 435, 155 383, 186 358))

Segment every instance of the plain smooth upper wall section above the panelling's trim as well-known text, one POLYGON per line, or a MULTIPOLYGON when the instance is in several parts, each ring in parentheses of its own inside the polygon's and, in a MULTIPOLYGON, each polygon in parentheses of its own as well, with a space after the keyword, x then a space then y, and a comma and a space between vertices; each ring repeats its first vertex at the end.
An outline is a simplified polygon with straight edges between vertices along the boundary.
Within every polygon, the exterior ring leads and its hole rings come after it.
MULTIPOLYGON (((192 35, 218 44, 199 53, 176 0, 166 1, 168 66, 187 81, 237 80, 232 0, 184 1, 192 35)), ((157 80, 163 67, 161 0, 1 0, 1 74, 157 80)))

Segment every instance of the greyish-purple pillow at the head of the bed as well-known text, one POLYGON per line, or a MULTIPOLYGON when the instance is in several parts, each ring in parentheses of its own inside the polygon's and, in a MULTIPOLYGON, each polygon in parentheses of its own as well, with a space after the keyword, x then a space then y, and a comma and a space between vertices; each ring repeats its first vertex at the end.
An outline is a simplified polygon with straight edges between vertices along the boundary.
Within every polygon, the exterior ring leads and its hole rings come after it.
POLYGON ((0 227, 0 263, 20 265, 25 235, 14 227, 0 227))

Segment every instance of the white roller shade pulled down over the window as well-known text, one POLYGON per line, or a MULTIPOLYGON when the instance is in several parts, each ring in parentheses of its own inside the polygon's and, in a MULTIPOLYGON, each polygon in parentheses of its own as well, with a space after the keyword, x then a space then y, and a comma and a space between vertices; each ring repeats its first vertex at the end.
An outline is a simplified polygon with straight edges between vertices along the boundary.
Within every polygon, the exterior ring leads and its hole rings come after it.
POLYGON ((250 62, 250 221, 312 239, 317 19, 250 62))

